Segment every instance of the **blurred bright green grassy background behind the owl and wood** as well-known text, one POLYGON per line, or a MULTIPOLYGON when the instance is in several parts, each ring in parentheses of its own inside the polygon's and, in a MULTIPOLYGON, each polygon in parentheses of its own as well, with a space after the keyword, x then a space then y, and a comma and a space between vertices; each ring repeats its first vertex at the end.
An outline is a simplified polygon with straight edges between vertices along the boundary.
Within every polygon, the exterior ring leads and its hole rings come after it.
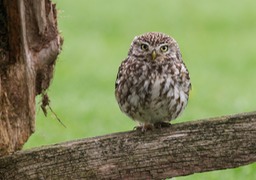
MULTIPOLYGON (((50 111, 44 117, 38 105, 26 149, 133 129, 136 123, 115 101, 114 82, 134 36, 148 31, 178 41, 191 75, 188 107, 174 123, 255 110, 256 1, 54 2, 64 46, 48 93, 67 128, 50 111)), ((176 179, 256 179, 255 168, 176 179)))

